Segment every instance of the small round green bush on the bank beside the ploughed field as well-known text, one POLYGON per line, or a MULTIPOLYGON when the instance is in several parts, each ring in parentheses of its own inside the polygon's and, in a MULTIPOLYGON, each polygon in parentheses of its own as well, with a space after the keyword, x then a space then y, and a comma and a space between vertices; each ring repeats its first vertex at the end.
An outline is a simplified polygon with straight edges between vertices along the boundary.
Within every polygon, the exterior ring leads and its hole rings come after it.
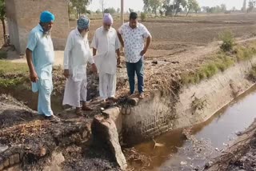
POLYGON ((222 45, 220 46, 221 50, 224 52, 233 50, 235 41, 234 34, 231 31, 225 31, 222 34, 219 34, 219 38, 222 40, 222 45))

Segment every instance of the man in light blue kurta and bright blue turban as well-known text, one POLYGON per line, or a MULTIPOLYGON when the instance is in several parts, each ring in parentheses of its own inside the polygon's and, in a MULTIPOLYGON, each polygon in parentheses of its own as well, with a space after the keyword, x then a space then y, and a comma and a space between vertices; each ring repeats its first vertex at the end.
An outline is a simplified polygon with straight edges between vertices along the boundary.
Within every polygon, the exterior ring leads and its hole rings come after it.
POLYGON ((54 64, 54 46, 50 31, 54 24, 54 14, 43 11, 38 26, 30 31, 26 46, 26 60, 30 68, 32 91, 38 92, 38 113, 50 121, 58 122, 50 107, 50 95, 53 90, 52 69, 54 64))

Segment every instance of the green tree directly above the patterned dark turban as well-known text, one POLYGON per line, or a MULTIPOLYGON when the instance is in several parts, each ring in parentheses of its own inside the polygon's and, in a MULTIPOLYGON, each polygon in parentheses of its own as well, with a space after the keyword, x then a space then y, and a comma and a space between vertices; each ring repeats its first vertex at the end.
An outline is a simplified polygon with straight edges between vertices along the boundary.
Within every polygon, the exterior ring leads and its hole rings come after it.
POLYGON ((87 10, 86 6, 90 4, 91 0, 70 0, 71 9, 75 9, 78 16, 81 14, 90 14, 90 10, 87 10))

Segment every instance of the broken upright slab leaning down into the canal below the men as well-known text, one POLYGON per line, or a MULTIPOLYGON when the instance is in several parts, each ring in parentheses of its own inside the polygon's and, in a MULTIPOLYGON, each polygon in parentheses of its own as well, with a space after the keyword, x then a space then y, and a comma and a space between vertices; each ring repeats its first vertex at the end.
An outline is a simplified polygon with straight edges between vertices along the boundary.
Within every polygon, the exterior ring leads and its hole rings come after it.
POLYGON ((91 125, 95 141, 101 141, 108 145, 110 152, 122 170, 126 170, 126 157, 122 153, 118 140, 118 129, 110 117, 97 115, 91 125))

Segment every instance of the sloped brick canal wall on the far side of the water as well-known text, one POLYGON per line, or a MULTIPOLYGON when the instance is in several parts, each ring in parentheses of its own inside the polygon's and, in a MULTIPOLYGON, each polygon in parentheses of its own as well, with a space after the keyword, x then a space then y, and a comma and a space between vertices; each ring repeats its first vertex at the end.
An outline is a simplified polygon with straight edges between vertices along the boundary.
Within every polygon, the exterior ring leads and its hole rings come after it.
POLYGON ((184 86, 178 93, 178 101, 156 91, 136 106, 124 105, 121 110, 124 142, 136 144, 172 129, 203 123, 234 100, 234 93, 244 93, 254 85, 247 80, 247 74, 255 64, 256 57, 239 62, 200 84, 184 86), (194 109, 195 97, 198 101, 205 101, 202 109, 194 109))

